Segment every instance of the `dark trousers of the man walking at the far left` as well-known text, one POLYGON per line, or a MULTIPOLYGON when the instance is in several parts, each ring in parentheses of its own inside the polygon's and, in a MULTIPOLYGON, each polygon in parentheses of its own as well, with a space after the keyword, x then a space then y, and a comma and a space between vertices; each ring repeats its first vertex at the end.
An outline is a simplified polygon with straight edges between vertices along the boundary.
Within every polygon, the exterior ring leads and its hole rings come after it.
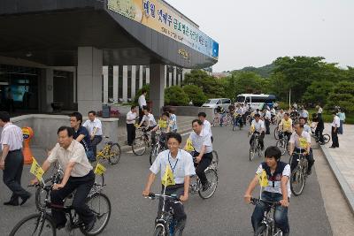
POLYGON ((19 197, 24 198, 29 193, 21 187, 23 170, 23 155, 21 149, 10 151, 5 159, 3 180, 4 184, 12 191, 11 202, 19 202, 19 197))

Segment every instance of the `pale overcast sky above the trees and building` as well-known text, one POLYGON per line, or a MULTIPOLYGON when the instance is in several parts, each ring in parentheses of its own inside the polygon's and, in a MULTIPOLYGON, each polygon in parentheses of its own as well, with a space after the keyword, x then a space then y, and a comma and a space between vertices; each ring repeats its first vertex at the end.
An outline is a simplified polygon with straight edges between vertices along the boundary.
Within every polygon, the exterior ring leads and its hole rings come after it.
POLYGON ((354 66, 354 0, 165 0, 219 42, 213 72, 277 57, 354 66))

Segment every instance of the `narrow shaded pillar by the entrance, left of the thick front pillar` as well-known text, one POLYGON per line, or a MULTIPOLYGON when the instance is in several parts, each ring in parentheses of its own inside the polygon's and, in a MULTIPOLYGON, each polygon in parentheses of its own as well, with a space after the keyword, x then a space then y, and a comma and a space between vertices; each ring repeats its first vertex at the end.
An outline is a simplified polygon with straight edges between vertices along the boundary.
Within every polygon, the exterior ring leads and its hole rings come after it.
POLYGON ((41 111, 42 112, 51 112, 51 103, 53 103, 53 69, 47 68, 44 69, 42 73, 42 97, 41 97, 41 111))

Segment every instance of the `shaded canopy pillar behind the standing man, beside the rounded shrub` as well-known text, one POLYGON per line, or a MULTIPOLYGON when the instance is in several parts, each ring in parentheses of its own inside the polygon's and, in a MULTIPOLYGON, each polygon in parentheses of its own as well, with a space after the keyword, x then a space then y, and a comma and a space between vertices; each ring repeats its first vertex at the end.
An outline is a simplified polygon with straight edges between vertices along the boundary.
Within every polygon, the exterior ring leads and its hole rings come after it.
POLYGON ((161 114, 164 106, 165 90, 165 65, 150 65, 150 101, 152 102, 152 113, 155 117, 161 114))

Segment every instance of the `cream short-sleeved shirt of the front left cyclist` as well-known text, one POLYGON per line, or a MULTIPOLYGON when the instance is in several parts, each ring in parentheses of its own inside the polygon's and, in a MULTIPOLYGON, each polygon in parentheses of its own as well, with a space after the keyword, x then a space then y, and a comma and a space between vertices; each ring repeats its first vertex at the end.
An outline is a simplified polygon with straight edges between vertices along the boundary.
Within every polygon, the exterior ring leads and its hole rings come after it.
POLYGON ((65 149, 57 145, 51 150, 50 156, 47 159, 50 164, 58 160, 60 166, 65 171, 69 162, 74 162, 71 176, 83 177, 92 170, 92 165, 89 164, 88 156, 86 156, 85 148, 80 142, 73 140, 70 146, 65 149))

